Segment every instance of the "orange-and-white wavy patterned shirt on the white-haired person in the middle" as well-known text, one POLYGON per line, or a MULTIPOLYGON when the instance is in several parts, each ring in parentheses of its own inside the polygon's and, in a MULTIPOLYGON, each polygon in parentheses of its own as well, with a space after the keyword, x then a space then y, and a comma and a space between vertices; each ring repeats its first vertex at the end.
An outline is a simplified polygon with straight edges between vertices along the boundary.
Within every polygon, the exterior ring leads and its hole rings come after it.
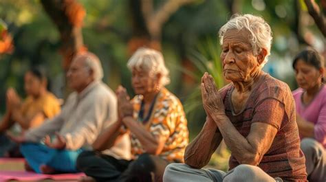
MULTIPOLYGON (((138 118, 142 95, 133 98, 134 117, 138 118)), ((138 120, 138 122, 141 122, 138 120)), ((157 95, 156 102, 149 118, 149 122, 144 124, 152 135, 160 135, 166 138, 164 148, 160 157, 168 161, 182 162, 184 160, 184 150, 188 145, 188 128, 186 115, 180 100, 167 89, 162 89, 157 95)), ((142 148, 140 141, 131 133, 131 154, 137 158, 146 152, 142 148)))

